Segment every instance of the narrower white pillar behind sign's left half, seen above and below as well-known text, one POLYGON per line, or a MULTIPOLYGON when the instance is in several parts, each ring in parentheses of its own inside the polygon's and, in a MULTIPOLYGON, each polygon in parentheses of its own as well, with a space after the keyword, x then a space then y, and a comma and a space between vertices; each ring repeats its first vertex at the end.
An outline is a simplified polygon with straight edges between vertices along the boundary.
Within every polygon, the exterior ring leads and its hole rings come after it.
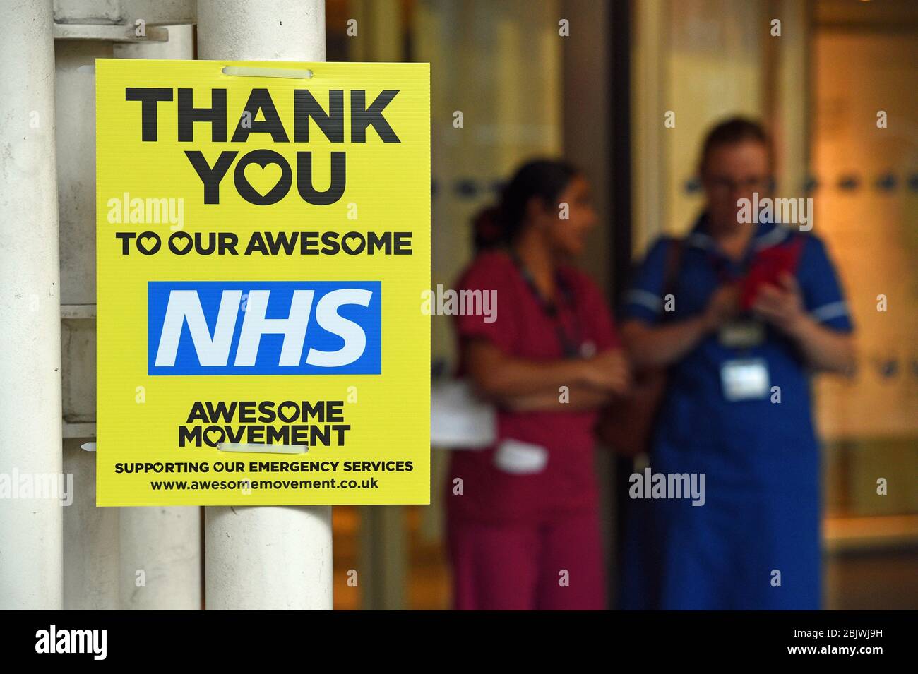
MULTIPOLYGON (((165 42, 115 45, 118 59, 195 58, 194 29, 167 26, 165 42)), ((201 608, 201 509, 119 508, 118 595, 123 610, 201 608)))

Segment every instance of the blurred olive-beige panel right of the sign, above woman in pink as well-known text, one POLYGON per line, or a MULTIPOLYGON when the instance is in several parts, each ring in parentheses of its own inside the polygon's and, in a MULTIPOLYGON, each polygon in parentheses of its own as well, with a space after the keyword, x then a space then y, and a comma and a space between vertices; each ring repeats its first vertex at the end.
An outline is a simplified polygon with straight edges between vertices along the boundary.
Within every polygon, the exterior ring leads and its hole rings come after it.
MULTIPOLYGON (((471 178, 479 190, 506 180, 523 160, 562 150, 558 3, 432 0, 412 27, 417 61, 431 61, 432 282, 455 282, 472 256, 471 218, 495 194, 455 192, 471 178), (461 111, 463 128, 453 127, 461 111)), ((431 316, 434 358, 453 358, 448 316, 431 316)))

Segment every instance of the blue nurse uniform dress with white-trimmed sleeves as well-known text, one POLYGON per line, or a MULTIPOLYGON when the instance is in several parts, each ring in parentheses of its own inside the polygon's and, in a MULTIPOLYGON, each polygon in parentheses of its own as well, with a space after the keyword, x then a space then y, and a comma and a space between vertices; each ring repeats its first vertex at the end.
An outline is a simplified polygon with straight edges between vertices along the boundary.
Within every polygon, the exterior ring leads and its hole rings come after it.
MULTIPOLYGON (((750 226, 752 227, 752 226, 750 226)), ((824 326, 852 324, 819 238, 771 223, 757 226, 744 260, 725 258, 706 217, 685 239, 664 311, 667 246, 657 241, 625 297, 624 318, 647 324, 699 315, 724 277, 740 278, 756 253, 802 237, 796 271, 806 311, 824 326)), ((705 502, 629 499, 621 605, 627 609, 818 609, 820 460, 808 371, 778 330, 744 348, 764 359, 770 393, 728 400, 722 366, 736 348, 705 337, 670 369, 655 425, 653 473, 704 473, 705 502), (780 402, 774 402, 778 386, 780 402)))

